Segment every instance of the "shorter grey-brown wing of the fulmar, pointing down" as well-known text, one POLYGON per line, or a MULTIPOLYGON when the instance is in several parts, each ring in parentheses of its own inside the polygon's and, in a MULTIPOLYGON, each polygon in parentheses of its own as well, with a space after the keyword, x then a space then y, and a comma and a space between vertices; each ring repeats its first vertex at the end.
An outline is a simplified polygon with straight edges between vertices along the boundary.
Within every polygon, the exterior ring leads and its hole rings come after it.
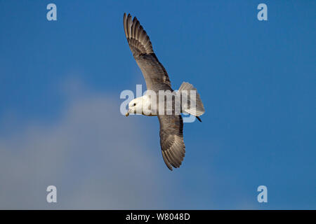
POLYGON ((178 168, 185 157, 182 117, 180 115, 159 115, 158 119, 162 158, 170 170, 172 167, 178 168))

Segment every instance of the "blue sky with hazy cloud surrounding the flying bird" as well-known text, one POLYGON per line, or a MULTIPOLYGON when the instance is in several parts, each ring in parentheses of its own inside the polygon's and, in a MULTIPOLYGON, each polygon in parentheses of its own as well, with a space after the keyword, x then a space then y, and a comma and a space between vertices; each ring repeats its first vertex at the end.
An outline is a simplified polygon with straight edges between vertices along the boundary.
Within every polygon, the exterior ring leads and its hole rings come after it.
POLYGON ((315 1, 0 1, 0 207, 315 209, 315 10, 315 1), (57 21, 46 20, 48 3, 57 21), (257 20, 259 3, 268 21, 257 20), (120 92, 145 87, 124 12, 145 27, 173 88, 190 82, 204 102, 173 172, 157 118, 119 113, 120 92), (51 205, 54 183, 63 192, 51 205))

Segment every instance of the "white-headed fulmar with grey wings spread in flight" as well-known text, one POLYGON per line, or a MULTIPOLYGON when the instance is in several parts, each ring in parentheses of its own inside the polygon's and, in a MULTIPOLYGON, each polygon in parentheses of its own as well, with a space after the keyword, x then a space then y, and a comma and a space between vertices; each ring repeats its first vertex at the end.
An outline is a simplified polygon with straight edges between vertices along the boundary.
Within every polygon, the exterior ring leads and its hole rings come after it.
MULTIPOLYGON (((154 54, 150 38, 147 36, 145 29, 143 29, 140 25, 140 22, 136 17, 132 19, 131 15, 126 15, 126 13, 124 13, 123 24, 129 48, 131 48, 133 57, 145 78, 147 92, 149 92, 148 90, 156 94, 159 94, 162 90, 165 92, 173 92, 168 73, 154 54)), ((183 105, 183 101, 180 101, 180 113, 190 113, 201 121, 199 116, 204 113, 204 106, 199 98, 199 94, 196 92, 195 87, 193 87, 190 83, 182 83, 177 92, 180 92, 181 99, 183 99, 184 94, 192 91, 195 91, 195 97, 193 99, 191 97, 187 103, 185 103, 185 106, 183 105), (190 105, 195 106, 194 108, 188 108, 187 106, 190 105)), ((160 124, 159 135, 160 146, 162 148, 162 158, 164 159, 166 166, 172 170, 172 167, 180 167, 183 158, 185 157, 183 119, 180 113, 176 113, 176 97, 172 97, 171 102, 174 106, 172 106, 170 114, 166 113, 166 111, 163 111, 163 113, 159 111, 159 113, 157 113, 157 108, 159 108, 162 104, 158 105, 156 103, 157 99, 155 99, 154 103, 152 103, 154 97, 151 96, 152 94, 145 93, 143 97, 138 97, 129 102, 129 110, 126 113, 126 116, 129 116, 130 113, 138 113, 146 116, 158 117, 160 124), (155 107, 154 104, 157 106, 155 107), (146 106, 145 108, 151 110, 150 113, 147 113, 148 111, 144 111, 144 105, 146 106)), ((157 101, 159 102, 159 100, 157 101)), ((165 104, 163 105, 166 107, 165 104)))

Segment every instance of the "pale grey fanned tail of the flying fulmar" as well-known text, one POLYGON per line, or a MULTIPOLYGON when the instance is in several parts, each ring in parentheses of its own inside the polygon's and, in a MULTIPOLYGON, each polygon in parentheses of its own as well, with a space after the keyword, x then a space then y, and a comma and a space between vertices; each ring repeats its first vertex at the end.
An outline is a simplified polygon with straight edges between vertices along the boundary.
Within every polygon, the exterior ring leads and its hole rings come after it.
POLYGON ((205 110, 197 89, 192 84, 183 82, 178 91, 182 97, 182 111, 196 117, 202 116, 205 110))

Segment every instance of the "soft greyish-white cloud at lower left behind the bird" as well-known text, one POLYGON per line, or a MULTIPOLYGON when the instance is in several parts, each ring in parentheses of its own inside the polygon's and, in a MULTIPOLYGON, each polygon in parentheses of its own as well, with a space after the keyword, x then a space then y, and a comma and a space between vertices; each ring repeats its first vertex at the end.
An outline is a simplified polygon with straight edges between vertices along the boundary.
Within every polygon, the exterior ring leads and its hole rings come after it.
POLYGON ((53 123, 0 137, 0 209, 163 208, 171 176, 162 176, 159 148, 142 138, 137 119, 119 113, 119 96, 66 97, 53 123), (58 189, 56 204, 46 202, 49 185, 58 189))

